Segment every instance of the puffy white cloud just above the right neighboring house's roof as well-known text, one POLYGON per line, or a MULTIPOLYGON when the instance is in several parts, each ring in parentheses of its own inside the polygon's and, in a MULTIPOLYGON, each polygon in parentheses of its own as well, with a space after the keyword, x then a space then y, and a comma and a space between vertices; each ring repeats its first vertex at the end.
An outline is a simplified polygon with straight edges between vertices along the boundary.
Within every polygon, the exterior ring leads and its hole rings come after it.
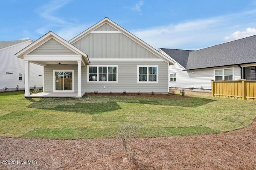
POLYGON ((226 36, 224 38, 225 41, 234 41, 236 39, 241 39, 245 37, 250 37, 252 35, 256 35, 255 28, 247 28, 245 31, 236 31, 232 33, 230 36, 226 36))

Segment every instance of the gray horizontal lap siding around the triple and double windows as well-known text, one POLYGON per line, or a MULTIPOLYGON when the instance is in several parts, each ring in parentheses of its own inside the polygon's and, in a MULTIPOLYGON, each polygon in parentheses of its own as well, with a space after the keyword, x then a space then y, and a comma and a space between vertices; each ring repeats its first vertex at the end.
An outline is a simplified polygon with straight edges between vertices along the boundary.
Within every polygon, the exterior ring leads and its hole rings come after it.
MULTIPOLYGON (((168 93, 168 64, 165 61, 91 61, 91 65, 118 66, 118 82, 87 82, 87 68, 82 69, 82 92, 155 92, 168 93), (138 83, 137 66, 158 66, 158 83, 138 83), (105 88, 104 88, 105 87, 105 88)), ((90 65, 87 65, 90 66, 90 65)))

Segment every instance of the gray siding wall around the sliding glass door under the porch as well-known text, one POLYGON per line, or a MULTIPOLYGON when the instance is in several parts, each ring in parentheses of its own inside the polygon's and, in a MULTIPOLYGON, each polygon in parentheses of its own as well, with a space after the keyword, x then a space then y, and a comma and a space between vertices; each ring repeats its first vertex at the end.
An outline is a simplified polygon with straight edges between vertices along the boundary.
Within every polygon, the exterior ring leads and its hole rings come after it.
MULTIPOLYGON (((85 67, 82 67, 84 71, 85 67)), ((77 92, 77 65, 47 65, 44 67, 44 92, 53 92, 53 70, 74 70, 73 80, 77 92)))

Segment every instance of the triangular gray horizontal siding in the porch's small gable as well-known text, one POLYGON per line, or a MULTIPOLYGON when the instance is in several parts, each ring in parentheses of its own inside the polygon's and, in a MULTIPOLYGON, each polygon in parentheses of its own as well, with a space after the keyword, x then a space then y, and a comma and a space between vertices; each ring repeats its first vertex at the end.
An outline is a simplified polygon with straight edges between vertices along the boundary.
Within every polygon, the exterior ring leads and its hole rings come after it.
POLYGON ((30 55, 68 55, 76 54, 55 39, 50 39, 46 43, 40 45, 34 51, 29 53, 30 55))

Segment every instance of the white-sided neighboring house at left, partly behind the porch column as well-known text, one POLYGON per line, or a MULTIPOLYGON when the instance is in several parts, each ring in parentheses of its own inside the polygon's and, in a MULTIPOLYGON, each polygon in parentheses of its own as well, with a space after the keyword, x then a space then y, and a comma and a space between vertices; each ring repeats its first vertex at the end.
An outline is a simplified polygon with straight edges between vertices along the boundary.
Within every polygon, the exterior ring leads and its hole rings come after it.
MULTIPOLYGON (((16 90, 17 85, 19 86, 19 90, 24 90, 25 62, 17 58, 15 53, 18 53, 33 42, 32 39, 0 42, 0 91, 3 91, 4 88, 16 90)), ((30 63, 30 68, 29 87, 42 87, 42 66, 30 63)))

